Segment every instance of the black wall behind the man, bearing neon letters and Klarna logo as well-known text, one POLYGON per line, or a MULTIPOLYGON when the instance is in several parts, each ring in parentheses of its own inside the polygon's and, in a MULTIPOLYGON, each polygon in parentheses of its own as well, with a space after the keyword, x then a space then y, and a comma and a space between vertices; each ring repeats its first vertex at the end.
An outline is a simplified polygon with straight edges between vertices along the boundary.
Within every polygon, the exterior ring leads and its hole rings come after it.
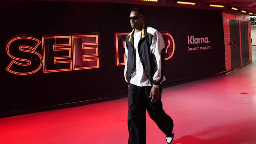
MULTIPOLYGON (((116 65, 114 33, 130 32, 127 18, 134 7, 144 9, 149 26, 160 32, 168 32, 174 38, 175 51, 171 59, 165 61, 167 81, 163 85, 225 70, 221 11, 97 2, 1 1, 0 113, 127 92, 123 78, 124 66, 116 65), (29 35, 42 42, 42 36, 47 34, 72 36, 75 33, 98 34, 99 68, 44 73, 42 66, 39 71, 29 75, 6 71, 12 60, 6 52, 10 38, 29 35), (188 36, 208 37, 209 43, 188 44, 188 36), (210 46, 210 49, 188 50, 188 47, 201 46, 210 46)), ((33 69, 40 63, 35 54, 18 50, 19 46, 26 44, 34 46, 35 43, 16 41, 10 52, 18 58, 30 59, 32 64, 16 66, 14 70, 25 72, 30 66, 33 69)), ((36 52, 42 55, 42 43, 36 52)), ((67 55, 65 52, 52 54, 52 57, 67 55)))

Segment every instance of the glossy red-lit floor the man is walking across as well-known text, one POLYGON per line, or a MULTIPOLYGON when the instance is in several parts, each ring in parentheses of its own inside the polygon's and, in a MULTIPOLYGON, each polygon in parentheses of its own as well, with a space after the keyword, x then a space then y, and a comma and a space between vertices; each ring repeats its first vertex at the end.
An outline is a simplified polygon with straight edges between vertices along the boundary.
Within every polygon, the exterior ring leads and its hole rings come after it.
MULTIPOLYGON (((256 144, 256 46, 252 55, 253 63, 229 74, 163 90, 173 144, 256 144)), ((0 144, 127 144, 127 108, 122 98, 0 118, 0 144)), ((165 144, 148 114, 147 144, 165 144)))

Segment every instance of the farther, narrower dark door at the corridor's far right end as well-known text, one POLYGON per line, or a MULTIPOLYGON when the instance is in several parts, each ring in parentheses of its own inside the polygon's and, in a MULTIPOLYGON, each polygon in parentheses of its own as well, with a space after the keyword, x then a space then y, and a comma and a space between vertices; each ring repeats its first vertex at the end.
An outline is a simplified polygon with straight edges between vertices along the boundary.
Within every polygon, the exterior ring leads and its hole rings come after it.
POLYGON ((242 65, 249 62, 249 50, 248 50, 248 26, 247 22, 241 21, 241 53, 242 53, 242 65))

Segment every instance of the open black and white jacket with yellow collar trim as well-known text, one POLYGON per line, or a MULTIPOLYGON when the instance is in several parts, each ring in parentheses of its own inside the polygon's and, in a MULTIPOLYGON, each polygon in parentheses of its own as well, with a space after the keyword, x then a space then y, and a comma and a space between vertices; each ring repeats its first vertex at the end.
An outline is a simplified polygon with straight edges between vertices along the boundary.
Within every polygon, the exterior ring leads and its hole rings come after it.
MULTIPOLYGON (((134 35, 135 29, 129 33, 125 41, 126 63, 124 78, 128 85, 134 71, 134 35)), ((151 85, 160 85, 165 81, 164 76, 164 39, 155 28, 143 24, 142 34, 138 43, 138 53, 143 69, 151 85)))

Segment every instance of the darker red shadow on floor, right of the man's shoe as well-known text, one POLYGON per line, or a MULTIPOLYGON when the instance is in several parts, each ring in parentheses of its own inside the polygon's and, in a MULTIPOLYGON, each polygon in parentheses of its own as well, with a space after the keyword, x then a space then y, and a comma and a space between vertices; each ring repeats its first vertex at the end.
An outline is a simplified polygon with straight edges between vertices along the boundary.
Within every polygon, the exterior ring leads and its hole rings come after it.
POLYGON ((239 123, 225 124, 174 139, 172 144, 256 144, 256 129, 252 125, 256 126, 253 119, 251 121, 247 119, 246 123, 240 121, 239 123))

